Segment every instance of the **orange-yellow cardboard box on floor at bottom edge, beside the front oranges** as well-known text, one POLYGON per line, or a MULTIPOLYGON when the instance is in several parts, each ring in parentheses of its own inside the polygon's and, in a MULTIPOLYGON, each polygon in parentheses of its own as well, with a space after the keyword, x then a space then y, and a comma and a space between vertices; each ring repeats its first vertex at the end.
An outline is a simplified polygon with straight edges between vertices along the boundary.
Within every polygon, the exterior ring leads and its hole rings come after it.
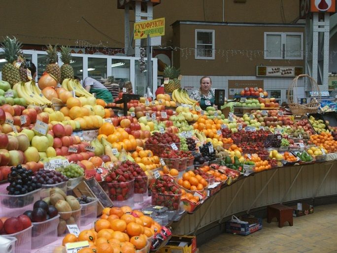
POLYGON ((197 238, 195 236, 173 235, 169 242, 160 249, 160 253, 196 253, 197 238))

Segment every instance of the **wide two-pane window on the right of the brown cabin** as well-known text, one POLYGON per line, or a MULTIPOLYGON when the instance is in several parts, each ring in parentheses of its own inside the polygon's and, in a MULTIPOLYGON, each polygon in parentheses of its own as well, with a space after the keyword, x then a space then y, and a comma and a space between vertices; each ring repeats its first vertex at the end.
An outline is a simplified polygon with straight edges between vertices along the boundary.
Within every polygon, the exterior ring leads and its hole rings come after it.
POLYGON ((265 33, 265 59, 303 59, 303 33, 265 33))

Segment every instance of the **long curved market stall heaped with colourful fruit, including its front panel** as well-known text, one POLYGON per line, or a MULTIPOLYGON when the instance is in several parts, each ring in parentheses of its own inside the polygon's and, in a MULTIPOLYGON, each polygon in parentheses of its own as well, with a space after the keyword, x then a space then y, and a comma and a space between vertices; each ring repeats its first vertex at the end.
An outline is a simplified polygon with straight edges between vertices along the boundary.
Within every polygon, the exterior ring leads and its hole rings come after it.
POLYGON ((108 105, 55 64, 37 85, 16 69, 0 81, 0 238, 15 253, 164 252, 232 214, 337 194, 333 116, 285 115, 258 87, 228 117, 178 87, 108 105))

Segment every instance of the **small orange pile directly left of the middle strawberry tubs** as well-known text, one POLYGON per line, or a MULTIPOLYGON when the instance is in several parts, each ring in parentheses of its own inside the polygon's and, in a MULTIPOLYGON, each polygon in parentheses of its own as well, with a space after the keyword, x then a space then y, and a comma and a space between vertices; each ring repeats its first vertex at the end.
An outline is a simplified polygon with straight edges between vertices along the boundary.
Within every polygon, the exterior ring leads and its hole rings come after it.
POLYGON ((131 155, 143 171, 151 171, 160 167, 159 157, 153 155, 151 150, 136 147, 136 150, 131 155))

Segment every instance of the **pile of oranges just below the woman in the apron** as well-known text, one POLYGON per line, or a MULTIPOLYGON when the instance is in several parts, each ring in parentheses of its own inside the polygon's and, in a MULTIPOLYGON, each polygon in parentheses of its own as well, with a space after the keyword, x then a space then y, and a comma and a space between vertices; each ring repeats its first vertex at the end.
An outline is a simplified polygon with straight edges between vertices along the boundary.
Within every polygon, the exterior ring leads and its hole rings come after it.
POLYGON ((221 119, 207 119, 206 115, 202 115, 196 123, 193 124, 194 129, 203 132, 208 138, 220 139, 221 136, 216 133, 221 129, 221 119))

